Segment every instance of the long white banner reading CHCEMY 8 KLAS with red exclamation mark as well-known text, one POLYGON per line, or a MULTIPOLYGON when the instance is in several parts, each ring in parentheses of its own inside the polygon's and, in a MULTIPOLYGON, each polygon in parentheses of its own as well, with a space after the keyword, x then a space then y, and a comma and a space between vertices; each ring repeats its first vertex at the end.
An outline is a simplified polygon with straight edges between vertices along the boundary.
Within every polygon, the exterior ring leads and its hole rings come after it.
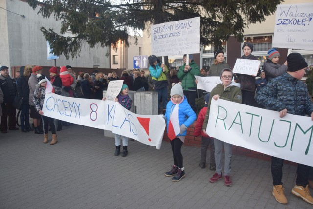
POLYGON ((51 118, 110 130, 143 144, 156 146, 157 149, 161 148, 165 130, 162 115, 138 115, 118 102, 63 97, 54 93, 46 93, 43 112, 51 118))

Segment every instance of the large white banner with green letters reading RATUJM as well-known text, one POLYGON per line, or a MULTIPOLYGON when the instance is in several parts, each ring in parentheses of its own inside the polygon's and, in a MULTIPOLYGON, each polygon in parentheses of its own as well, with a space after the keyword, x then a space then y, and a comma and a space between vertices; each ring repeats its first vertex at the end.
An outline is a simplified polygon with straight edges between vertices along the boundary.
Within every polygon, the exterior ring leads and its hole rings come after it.
POLYGON ((212 100, 206 129, 209 136, 285 160, 313 166, 311 117, 212 100))

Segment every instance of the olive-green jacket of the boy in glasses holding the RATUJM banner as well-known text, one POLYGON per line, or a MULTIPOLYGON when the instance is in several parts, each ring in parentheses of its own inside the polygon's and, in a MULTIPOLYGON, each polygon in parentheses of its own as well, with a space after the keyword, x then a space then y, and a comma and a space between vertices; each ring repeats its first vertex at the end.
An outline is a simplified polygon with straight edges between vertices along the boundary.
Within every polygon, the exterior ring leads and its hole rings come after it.
POLYGON ((228 86, 224 90, 223 84, 217 84, 217 86, 215 88, 213 88, 213 90, 210 94, 209 104, 208 104, 208 107, 206 110, 202 129, 206 130, 207 122, 209 120, 209 115, 210 115, 211 100, 212 100, 213 96, 217 95, 217 94, 220 95, 219 99, 242 104, 241 90, 239 87, 237 87, 237 86, 233 85, 233 83, 231 83, 230 86, 228 86))

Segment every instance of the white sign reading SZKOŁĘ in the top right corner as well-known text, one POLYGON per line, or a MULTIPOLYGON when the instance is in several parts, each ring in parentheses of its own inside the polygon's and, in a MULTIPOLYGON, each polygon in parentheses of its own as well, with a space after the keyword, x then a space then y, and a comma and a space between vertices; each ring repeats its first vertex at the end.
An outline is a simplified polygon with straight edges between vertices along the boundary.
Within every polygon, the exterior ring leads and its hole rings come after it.
POLYGON ((278 5, 273 47, 312 50, 312 19, 313 3, 278 5))

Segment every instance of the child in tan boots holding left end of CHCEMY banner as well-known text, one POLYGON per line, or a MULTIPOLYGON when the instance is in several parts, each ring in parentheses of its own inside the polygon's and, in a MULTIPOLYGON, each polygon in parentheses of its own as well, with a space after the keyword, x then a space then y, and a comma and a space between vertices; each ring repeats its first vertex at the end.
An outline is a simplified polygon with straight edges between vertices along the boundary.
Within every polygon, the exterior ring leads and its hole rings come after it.
MULTIPOLYGON (((44 121, 44 143, 48 143, 48 128, 50 125, 51 132, 52 132, 52 141, 50 142, 50 145, 54 145, 57 143, 57 135, 56 135, 56 130, 54 126, 54 119, 44 116, 44 112, 42 111, 44 101, 45 101, 45 88, 47 86, 47 79, 45 76, 39 76, 38 77, 38 85, 36 85, 36 90, 34 91, 34 97, 33 97, 33 102, 36 108, 36 111, 41 115, 43 121, 44 121)), ((60 94, 62 91, 62 88, 53 86, 52 92, 56 94, 60 94)))

